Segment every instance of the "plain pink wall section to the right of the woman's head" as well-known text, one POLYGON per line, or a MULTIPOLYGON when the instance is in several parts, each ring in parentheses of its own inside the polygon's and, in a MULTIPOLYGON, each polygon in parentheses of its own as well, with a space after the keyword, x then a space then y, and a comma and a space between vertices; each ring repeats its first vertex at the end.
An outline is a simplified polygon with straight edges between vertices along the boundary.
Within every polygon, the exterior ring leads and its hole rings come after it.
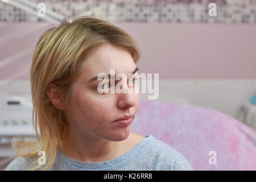
POLYGON ((160 78, 255 78, 255 24, 119 24, 138 40, 144 72, 160 78))

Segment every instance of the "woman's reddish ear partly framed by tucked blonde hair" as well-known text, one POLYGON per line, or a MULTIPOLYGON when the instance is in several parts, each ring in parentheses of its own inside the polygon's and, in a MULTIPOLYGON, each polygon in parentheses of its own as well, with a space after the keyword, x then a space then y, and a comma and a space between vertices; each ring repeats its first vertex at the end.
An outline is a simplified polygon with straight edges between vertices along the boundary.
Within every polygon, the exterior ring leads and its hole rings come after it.
POLYGON ((46 87, 46 93, 55 107, 64 109, 63 95, 61 94, 61 90, 57 88, 55 84, 48 84, 46 87))

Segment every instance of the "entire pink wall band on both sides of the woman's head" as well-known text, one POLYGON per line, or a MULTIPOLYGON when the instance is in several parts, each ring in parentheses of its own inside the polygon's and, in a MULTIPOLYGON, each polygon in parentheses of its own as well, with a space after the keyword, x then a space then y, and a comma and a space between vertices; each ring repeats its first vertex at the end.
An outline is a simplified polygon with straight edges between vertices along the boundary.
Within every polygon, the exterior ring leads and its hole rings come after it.
MULTIPOLYGON (((118 23, 138 41, 140 72, 159 78, 256 77, 256 24, 118 23)), ((0 23, 0 79, 29 79, 35 44, 49 23, 0 23)))

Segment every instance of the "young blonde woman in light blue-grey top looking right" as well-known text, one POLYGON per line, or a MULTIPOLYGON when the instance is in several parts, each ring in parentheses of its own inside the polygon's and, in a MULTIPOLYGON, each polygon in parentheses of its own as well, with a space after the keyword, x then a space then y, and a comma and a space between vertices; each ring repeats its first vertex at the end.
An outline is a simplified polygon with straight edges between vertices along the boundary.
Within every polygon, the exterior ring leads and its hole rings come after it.
POLYGON ((31 65, 40 134, 37 142, 14 143, 17 157, 6 170, 193 170, 168 144, 130 133, 139 93, 98 90, 100 82, 104 90, 118 82, 97 80, 110 69, 133 81, 122 89, 138 89, 139 57, 137 42, 104 20, 81 16, 44 32, 31 65))

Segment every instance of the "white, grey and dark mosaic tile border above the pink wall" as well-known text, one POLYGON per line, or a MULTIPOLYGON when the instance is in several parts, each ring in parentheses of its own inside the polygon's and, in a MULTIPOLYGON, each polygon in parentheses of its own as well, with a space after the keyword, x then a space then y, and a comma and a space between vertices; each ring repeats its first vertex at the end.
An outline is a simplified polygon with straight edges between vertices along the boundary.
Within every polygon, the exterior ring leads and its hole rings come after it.
MULTIPOLYGON (((14 1, 14 0, 13 0, 14 1)), ((31 1, 31 0, 30 0, 31 1)), ((255 23, 256 1, 33 1, 43 2, 67 18, 94 16, 110 22, 195 22, 195 23, 255 23), (127 3, 129 2, 129 3, 127 3), (209 2, 216 2, 217 16, 208 15, 209 2), (243 3, 241 3, 243 2, 243 3)), ((34 9, 34 11, 38 11, 34 9)), ((0 0, 0 22, 44 21, 0 0)))

